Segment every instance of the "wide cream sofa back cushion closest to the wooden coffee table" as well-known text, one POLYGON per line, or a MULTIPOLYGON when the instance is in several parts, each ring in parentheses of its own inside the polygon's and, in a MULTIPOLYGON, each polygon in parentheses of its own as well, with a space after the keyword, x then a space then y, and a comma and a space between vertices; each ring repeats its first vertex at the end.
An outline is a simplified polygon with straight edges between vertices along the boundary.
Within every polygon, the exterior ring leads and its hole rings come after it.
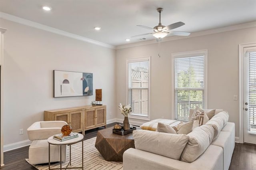
POLYGON ((149 130, 134 130, 132 133, 136 149, 176 160, 180 159, 189 138, 186 134, 168 134, 149 130))

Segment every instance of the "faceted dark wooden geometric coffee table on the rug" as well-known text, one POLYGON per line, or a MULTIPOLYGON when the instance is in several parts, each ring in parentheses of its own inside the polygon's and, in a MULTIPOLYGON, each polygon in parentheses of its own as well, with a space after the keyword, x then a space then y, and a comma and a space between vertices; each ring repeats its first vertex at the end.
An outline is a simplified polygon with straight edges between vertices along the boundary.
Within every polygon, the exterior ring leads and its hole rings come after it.
POLYGON ((123 161, 123 153, 128 148, 135 148, 132 133, 124 136, 113 134, 113 127, 99 130, 95 142, 103 158, 107 161, 123 161))

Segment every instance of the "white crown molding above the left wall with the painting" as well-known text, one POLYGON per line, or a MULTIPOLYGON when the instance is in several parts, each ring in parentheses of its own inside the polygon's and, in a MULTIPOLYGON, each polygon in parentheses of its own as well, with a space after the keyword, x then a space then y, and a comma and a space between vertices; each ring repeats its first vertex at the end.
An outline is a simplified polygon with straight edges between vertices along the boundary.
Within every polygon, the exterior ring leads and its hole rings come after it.
POLYGON ((46 25, 43 25, 43 24, 39 24, 37 22, 33 22, 33 21, 26 20, 26 19, 23 19, 23 18, 20 18, 20 17, 17 17, 17 16, 6 14, 4 12, 0 12, 0 18, 3 18, 5 20, 10 20, 10 21, 13 21, 13 22, 17 22, 19 24, 23 24, 23 25, 30 26, 30 27, 33 27, 33 28, 38 28, 40 30, 52 32, 54 34, 59 34, 59 35, 66 36, 66 37, 69 37, 69 38, 74 38, 76 40, 80 40, 80 41, 83 41, 83 42, 88 42, 88 43, 92 43, 92 44, 95 44, 95 45, 100 45, 102 47, 116 49, 115 46, 107 44, 107 43, 98 42, 98 41, 95 41, 95 40, 92 40, 92 39, 89 39, 89 38, 85 38, 83 36, 78 36, 76 34, 72 34, 72 33, 65 32, 65 31, 62 31, 62 30, 59 30, 59 29, 56 29, 56 28, 53 28, 53 27, 49 27, 49 26, 46 26, 46 25))

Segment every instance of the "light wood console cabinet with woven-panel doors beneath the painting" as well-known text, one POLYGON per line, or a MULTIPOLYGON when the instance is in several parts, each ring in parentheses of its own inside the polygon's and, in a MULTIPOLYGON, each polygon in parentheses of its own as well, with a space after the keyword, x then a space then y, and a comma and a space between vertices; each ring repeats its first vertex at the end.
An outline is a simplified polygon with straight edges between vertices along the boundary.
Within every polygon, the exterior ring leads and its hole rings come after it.
POLYGON ((65 121, 73 132, 106 128, 106 105, 81 106, 44 111, 44 121, 65 121))

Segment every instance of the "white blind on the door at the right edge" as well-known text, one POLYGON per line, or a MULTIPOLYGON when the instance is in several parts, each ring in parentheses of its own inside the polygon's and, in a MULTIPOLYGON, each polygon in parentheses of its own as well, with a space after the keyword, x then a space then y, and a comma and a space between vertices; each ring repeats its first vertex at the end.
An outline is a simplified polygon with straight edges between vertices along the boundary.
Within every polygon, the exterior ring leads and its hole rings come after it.
POLYGON ((249 131, 256 133, 256 51, 249 53, 249 131))

